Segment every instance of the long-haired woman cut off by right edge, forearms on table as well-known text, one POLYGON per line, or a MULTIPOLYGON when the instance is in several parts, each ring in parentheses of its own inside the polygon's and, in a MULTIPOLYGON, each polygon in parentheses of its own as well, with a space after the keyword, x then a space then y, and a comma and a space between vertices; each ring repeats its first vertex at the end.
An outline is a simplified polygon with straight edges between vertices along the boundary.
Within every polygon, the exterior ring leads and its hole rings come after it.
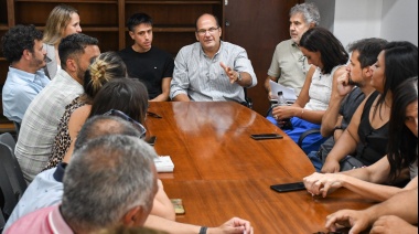
POLYGON ((333 190, 344 187, 362 196, 385 201, 396 193, 418 187, 418 77, 400 84, 394 93, 389 120, 387 157, 370 167, 341 173, 313 173, 304 178, 307 190, 323 198, 333 190), (404 189, 393 184, 410 168, 410 179, 404 189), (378 184, 380 183, 380 184, 378 184))

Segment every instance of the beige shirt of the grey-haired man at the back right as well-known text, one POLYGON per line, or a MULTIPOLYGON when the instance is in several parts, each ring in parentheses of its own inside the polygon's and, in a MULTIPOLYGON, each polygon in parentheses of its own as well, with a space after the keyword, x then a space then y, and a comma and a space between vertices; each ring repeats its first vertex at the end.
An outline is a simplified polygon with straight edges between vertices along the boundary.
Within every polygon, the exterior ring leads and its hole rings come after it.
POLYGON ((304 85, 309 68, 310 65, 300 47, 290 39, 280 42, 275 49, 268 75, 279 77, 278 83, 294 88, 298 96, 304 85))

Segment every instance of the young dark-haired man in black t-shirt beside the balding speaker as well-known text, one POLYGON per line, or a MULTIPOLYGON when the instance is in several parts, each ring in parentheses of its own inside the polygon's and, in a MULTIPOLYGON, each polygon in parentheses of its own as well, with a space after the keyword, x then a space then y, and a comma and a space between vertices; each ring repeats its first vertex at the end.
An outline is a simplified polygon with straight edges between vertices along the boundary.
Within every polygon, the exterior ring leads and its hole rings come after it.
POLYGON ((146 84, 151 102, 169 100, 174 62, 171 54, 152 46, 153 21, 144 13, 135 13, 127 23, 133 45, 119 52, 130 77, 146 84))

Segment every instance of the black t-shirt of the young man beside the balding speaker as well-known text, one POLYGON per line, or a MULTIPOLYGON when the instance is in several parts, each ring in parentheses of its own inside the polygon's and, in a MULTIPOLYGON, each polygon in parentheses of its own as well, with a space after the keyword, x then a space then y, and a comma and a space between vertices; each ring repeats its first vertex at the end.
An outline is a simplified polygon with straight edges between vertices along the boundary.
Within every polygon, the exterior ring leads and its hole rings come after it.
POLYGON ((170 53, 152 46, 146 53, 138 53, 131 46, 119 51, 119 55, 127 65, 128 75, 144 83, 149 92, 149 99, 162 93, 163 77, 172 77, 174 61, 170 53))

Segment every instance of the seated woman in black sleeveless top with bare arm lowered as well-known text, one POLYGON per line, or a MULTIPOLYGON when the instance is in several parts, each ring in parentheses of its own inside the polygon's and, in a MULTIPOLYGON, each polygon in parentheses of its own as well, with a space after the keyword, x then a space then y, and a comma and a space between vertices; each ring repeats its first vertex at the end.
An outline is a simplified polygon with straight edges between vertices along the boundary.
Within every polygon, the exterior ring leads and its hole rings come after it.
POLYGON ((370 166, 387 153, 393 92, 407 78, 418 75, 418 47, 410 42, 390 42, 378 54, 372 70, 370 84, 376 91, 356 109, 327 155, 323 173, 370 166))

